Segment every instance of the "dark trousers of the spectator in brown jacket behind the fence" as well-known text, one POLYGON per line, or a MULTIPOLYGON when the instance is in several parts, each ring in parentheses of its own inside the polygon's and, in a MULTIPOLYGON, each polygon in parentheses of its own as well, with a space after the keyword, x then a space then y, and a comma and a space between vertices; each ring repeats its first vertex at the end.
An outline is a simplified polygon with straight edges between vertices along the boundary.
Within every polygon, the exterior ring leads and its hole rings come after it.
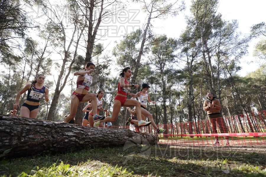
MULTIPOLYGON (((209 114, 207 115, 210 123, 212 124, 213 133, 217 133, 217 126, 216 122, 219 125, 219 129, 221 133, 228 133, 226 122, 223 119, 223 116, 221 113, 219 114, 209 114)), ((226 140, 228 140, 228 136, 225 137, 226 140)), ((218 136, 215 136, 215 139, 218 140, 218 136)))

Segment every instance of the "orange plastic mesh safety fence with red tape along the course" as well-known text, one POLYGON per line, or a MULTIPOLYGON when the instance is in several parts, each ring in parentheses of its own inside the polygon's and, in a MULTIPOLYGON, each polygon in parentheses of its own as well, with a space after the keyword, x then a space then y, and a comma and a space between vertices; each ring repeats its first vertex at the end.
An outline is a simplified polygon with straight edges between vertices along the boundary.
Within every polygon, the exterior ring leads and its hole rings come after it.
MULTIPOLYGON (((151 126, 134 127, 111 126, 126 128, 136 132, 157 134, 151 126)), ((175 124, 160 124, 158 128, 166 129, 159 134, 159 142, 171 145, 208 146, 217 139, 220 145, 230 146, 262 146, 266 145, 266 110, 230 117, 211 118, 175 124)))

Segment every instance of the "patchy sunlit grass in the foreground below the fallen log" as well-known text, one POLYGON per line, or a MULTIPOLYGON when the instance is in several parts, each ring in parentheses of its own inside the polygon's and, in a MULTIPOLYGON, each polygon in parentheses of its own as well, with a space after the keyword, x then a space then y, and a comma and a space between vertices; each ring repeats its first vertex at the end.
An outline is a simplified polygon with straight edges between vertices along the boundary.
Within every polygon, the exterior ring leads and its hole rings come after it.
POLYGON ((266 176, 266 154, 129 145, 2 159, 2 176, 266 176))

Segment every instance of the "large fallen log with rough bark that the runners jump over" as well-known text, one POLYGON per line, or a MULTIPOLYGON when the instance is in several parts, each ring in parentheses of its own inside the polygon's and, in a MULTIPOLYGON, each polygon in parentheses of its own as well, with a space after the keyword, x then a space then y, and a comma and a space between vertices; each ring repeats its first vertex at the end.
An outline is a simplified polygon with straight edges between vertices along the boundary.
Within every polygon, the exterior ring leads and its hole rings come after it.
POLYGON ((93 128, 12 115, 0 115, 0 157, 19 157, 46 152, 70 152, 86 147, 150 144, 158 136, 129 129, 93 128))

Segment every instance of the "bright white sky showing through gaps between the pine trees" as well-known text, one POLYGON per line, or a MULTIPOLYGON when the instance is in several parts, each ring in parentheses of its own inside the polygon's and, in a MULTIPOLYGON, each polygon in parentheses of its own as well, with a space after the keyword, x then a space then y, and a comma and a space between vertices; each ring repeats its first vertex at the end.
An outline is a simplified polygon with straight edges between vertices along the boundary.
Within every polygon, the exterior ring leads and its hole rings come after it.
MULTIPOLYGON (((54 1, 58 3, 57 0, 54 1)), ((125 0, 125 2, 128 3, 130 1, 125 0)), ((182 30, 184 30, 186 27, 184 18, 185 15, 190 15, 189 6, 191 1, 185 0, 185 3, 186 10, 181 12, 176 17, 153 19, 151 21, 151 24, 153 25, 153 31, 158 35, 166 34, 168 37, 178 38, 182 30)), ((231 21, 233 19, 237 19, 239 22, 239 31, 241 31, 243 34, 247 34, 249 33, 250 27, 253 24, 266 22, 265 6, 265 0, 220 0, 218 12, 222 14, 224 20, 231 21)), ((34 23, 39 23, 40 26, 42 26, 42 22, 47 22, 43 20, 46 19, 46 16, 42 15, 38 8, 32 9, 26 5, 22 6, 22 8, 29 12, 29 16, 32 18, 34 23)), ((56 9, 56 6, 53 5, 53 8, 56 9)), ((111 51, 114 47, 114 41, 121 40, 124 34, 128 34, 133 30, 137 30, 138 28, 144 29, 144 24, 147 22, 147 13, 144 14, 140 9, 140 4, 131 3, 130 5, 125 6, 124 10, 119 11, 117 15, 113 15, 101 23, 101 25, 109 29, 108 31, 101 31, 98 33, 103 35, 106 32, 106 36, 101 38, 103 41, 96 42, 104 43, 104 46, 109 44, 103 53, 110 53, 109 51, 111 51)), ((49 13, 50 12, 48 12, 48 16, 52 18, 53 14, 49 13)), ((63 15, 59 14, 59 16, 61 17, 61 20, 65 20, 63 15)), ((257 62, 251 63, 253 60, 255 60, 255 58, 252 56, 252 53, 254 45, 258 42, 258 40, 259 39, 254 39, 249 44, 249 54, 241 59, 242 70, 239 73, 241 76, 245 76, 248 72, 255 71, 259 67, 259 64, 261 64, 257 62)), ((84 49, 82 50, 84 51, 84 49)), ((57 57, 51 56, 51 58, 57 57)), ((144 57, 142 57, 142 59, 144 60, 144 57)), ((54 75, 57 76, 58 74, 54 73, 54 75)))

